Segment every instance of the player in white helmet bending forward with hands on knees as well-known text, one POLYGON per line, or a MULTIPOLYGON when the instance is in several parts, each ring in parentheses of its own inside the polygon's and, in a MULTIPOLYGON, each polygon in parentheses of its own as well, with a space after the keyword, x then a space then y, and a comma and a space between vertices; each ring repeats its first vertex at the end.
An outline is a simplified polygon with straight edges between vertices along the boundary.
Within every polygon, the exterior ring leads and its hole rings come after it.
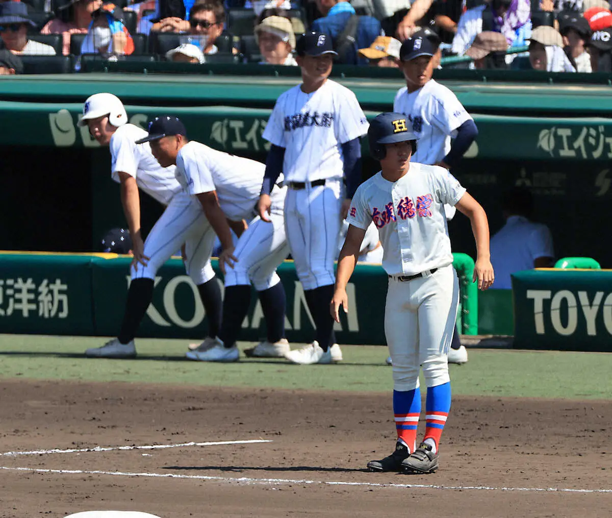
POLYGON ((211 250, 215 233, 202 214, 200 205, 183 192, 174 176, 174 167, 161 167, 148 144, 136 145, 146 137, 142 128, 127 122, 127 113, 113 94, 95 94, 83 105, 79 126, 103 146, 110 146, 111 176, 121 184, 121 201, 132 238, 132 282, 127 295, 124 320, 116 339, 91 348, 91 358, 134 358, 134 337, 153 297, 157 270, 176 250, 184 246, 185 269, 197 285, 208 320, 212 343, 221 324, 221 289, 214 278, 211 250), (138 189, 165 205, 165 211, 143 242, 140 229, 138 189))

